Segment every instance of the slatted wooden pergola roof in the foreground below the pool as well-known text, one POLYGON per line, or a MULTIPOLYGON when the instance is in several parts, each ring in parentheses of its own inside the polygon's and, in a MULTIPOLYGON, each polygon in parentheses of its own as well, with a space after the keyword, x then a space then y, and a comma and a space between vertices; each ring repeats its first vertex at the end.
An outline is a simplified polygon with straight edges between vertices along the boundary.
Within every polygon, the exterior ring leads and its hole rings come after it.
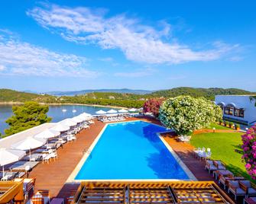
POLYGON ((235 203, 213 181, 82 182, 73 203, 235 203))

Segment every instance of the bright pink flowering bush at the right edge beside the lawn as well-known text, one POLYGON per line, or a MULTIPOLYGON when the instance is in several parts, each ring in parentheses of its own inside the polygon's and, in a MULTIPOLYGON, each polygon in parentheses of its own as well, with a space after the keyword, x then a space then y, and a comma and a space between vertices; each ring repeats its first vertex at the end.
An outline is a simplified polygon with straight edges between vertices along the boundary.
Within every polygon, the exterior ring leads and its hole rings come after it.
POLYGON ((245 135, 241 135, 241 140, 246 171, 252 179, 256 179, 256 125, 248 129, 245 135))

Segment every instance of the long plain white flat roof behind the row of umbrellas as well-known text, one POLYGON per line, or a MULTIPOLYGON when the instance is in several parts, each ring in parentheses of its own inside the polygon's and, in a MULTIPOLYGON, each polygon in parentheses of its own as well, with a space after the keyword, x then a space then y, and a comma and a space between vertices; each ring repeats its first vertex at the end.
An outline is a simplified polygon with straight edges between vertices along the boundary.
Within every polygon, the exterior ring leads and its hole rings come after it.
POLYGON ((24 140, 29 136, 37 135, 38 133, 43 132, 45 129, 49 129, 55 126, 55 124, 56 123, 44 123, 40 126, 35 126, 31 129, 26 129, 22 132, 18 132, 14 135, 10 135, 8 137, 0 139, 0 148, 11 148, 11 145, 13 145, 14 143, 20 142, 21 140, 24 140))

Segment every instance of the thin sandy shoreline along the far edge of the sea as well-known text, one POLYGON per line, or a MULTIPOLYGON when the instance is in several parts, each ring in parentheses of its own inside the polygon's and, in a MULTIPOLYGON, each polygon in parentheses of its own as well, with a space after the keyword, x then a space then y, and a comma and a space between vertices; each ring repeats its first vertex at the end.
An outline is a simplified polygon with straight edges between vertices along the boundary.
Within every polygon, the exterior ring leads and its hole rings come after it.
MULTIPOLYGON (((24 104, 24 102, 13 102, 13 101, 9 101, 9 102, 3 102, 0 101, 0 105, 21 105, 24 104)), ((126 109, 128 110, 128 107, 116 107, 116 106, 103 106, 103 105, 98 105, 98 104, 69 104, 69 103, 64 103, 64 104, 57 104, 57 103, 53 103, 53 104, 47 104, 47 103, 39 103, 39 104, 44 104, 44 105, 51 105, 51 106, 86 106, 86 107, 109 107, 109 108, 118 108, 118 109, 126 109)))

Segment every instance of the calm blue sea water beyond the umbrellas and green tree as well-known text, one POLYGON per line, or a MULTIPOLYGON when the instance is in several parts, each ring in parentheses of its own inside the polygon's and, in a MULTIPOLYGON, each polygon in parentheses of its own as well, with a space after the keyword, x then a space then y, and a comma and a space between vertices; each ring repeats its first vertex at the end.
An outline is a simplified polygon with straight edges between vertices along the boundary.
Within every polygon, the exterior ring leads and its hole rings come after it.
MULTIPOLYGON (((52 122, 59 122, 60 120, 78 116, 80 113, 86 112, 90 114, 96 114, 96 111, 98 110, 110 110, 110 108, 107 107, 89 107, 89 106, 79 106, 79 105, 61 105, 61 106, 49 106, 49 112, 48 116, 52 117, 52 122), (66 112, 63 112, 62 110, 66 109, 66 112), (72 111, 76 110, 76 113, 73 113, 72 111)), ((7 120, 12 115, 11 105, 0 105, 0 132, 4 133, 4 130, 8 128, 8 124, 5 123, 5 120, 7 120)))

